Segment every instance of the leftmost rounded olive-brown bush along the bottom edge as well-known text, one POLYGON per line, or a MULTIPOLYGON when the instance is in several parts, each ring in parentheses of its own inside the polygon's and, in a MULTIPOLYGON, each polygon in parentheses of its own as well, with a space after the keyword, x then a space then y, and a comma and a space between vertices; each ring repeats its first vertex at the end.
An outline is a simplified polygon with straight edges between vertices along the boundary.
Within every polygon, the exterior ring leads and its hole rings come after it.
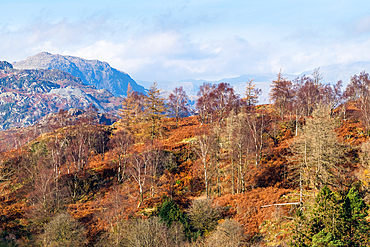
POLYGON ((45 246, 84 246, 87 243, 84 227, 66 213, 55 216, 45 226, 40 239, 45 246))

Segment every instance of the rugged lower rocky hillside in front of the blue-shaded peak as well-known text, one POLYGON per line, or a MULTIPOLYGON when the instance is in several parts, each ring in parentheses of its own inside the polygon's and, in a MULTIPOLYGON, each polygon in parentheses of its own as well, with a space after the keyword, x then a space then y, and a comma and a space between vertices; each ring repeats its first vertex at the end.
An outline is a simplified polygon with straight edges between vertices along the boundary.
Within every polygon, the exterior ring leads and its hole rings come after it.
POLYGON ((60 70, 14 69, 0 62, 0 129, 30 126, 49 113, 90 105, 116 114, 121 102, 108 90, 60 70))

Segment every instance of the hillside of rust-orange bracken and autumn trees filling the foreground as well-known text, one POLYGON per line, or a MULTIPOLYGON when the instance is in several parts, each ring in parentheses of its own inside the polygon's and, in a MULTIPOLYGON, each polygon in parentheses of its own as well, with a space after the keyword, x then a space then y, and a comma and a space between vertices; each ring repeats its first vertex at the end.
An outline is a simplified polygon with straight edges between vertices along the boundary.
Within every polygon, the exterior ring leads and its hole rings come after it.
POLYGON ((370 76, 129 86, 0 156, 0 246, 369 246, 370 76), (95 115, 94 115, 95 114, 95 115))

